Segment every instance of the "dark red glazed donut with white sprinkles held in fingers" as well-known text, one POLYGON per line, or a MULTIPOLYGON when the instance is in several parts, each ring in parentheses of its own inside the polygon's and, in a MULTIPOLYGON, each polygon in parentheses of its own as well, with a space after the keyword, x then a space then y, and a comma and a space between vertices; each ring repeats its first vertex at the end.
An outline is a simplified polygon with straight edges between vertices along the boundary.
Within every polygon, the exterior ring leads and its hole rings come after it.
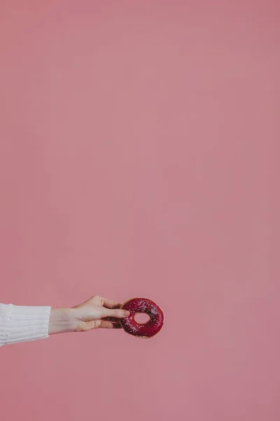
POLYGON ((136 338, 152 338, 163 326, 164 316, 162 309, 148 298, 132 298, 124 302, 120 307, 128 310, 130 316, 120 319, 120 324, 125 332, 136 338), (138 323, 135 320, 137 313, 146 313, 150 317, 146 323, 138 323))

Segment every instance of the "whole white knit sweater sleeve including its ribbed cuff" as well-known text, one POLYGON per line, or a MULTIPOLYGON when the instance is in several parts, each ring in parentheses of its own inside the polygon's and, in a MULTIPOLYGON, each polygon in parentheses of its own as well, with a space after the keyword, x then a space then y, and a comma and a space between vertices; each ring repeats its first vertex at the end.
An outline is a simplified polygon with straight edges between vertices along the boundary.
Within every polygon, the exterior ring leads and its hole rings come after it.
POLYGON ((0 347, 48 338, 50 309, 0 304, 0 347))

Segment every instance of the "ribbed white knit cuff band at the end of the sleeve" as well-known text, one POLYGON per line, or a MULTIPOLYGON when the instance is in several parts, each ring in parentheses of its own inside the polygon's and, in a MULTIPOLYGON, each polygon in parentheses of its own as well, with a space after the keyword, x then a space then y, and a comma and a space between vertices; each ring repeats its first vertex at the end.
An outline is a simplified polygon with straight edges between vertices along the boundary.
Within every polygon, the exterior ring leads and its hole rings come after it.
POLYGON ((48 338, 51 307, 10 306, 11 323, 10 333, 6 338, 7 345, 48 338))

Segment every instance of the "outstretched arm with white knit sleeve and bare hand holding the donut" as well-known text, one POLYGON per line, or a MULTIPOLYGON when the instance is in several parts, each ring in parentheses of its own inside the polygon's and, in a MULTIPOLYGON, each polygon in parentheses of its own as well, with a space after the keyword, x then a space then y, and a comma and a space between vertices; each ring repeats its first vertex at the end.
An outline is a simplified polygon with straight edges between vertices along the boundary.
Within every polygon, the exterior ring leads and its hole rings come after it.
POLYGON ((120 328, 129 316, 118 302, 95 295, 71 308, 0 305, 1 345, 48 338, 55 333, 85 332, 96 328, 120 328))

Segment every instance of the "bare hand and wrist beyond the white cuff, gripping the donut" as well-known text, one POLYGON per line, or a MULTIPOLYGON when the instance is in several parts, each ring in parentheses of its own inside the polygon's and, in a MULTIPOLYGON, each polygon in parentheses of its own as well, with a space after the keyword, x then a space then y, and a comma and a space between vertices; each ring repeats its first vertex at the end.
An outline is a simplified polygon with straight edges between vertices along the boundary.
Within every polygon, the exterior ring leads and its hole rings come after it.
POLYGON ((119 319, 130 312, 120 309, 120 304, 94 295, 83 304, 69 309, 52 308, 49 335, 65 332, 85 332, 97 328, 121 328, 119 319))

